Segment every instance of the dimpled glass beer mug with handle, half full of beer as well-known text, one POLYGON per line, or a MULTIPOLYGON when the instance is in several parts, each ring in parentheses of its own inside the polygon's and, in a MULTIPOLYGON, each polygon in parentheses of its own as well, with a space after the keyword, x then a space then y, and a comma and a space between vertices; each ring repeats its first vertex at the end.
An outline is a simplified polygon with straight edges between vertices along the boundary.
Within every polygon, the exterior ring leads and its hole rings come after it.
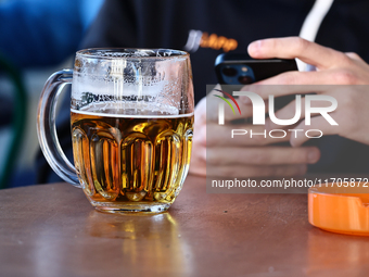
POLYGON ((40 148, 53 171, 109 213, 166 211, 188 174, 193 134, 189 54, 169 49, 87 49, 74 71, 50 76, 38 108, 40 148), (72 84, 74 165, 55 128, 72 84))

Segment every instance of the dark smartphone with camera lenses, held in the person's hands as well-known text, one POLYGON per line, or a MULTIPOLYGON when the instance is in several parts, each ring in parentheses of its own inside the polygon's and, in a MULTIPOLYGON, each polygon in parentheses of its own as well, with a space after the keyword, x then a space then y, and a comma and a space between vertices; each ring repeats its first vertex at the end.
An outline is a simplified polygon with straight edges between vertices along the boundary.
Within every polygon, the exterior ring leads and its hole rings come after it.
MULTIPOLYGON (((278 74, 298 71, 296 61, 270 59, 270 60, 252 60, 249 54, 222 53, 215 60, 215 73, 221 89, 228 93, 239 91, 244 85, 253 84, 263 79, 270 78, 278 74)), ((292 100, 295 96, 284 96, 275 99, 275 109, 280 110, 292 100)))

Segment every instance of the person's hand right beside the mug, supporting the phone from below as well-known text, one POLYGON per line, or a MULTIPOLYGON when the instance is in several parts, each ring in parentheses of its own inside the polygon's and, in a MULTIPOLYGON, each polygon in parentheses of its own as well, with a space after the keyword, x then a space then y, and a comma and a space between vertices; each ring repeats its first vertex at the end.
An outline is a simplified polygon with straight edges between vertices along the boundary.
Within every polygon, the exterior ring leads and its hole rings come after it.
POLYGON ((208 111, 218 109, 218 101, 209 99, 212 97, 211 93, 207 98, 203 98, 195 108, 191 174, 220 177, 294 176, 305 174, 307 164, 319 160, 320 152, 316 147, 270 146, 289 141, 290 136, 283 139, 234 136, 231 139, 231 129, 252 128, 253 131, 263 133, 265 128, 251 124, 229 123, 239 117, 252 116, 252 106, 240 102, 242 116, 233 115, 230 109, 225 109, 225 125, 218 125, 217 112, 208 112, 206 118, 206 105, 214 105, 207 106, 208 111))

